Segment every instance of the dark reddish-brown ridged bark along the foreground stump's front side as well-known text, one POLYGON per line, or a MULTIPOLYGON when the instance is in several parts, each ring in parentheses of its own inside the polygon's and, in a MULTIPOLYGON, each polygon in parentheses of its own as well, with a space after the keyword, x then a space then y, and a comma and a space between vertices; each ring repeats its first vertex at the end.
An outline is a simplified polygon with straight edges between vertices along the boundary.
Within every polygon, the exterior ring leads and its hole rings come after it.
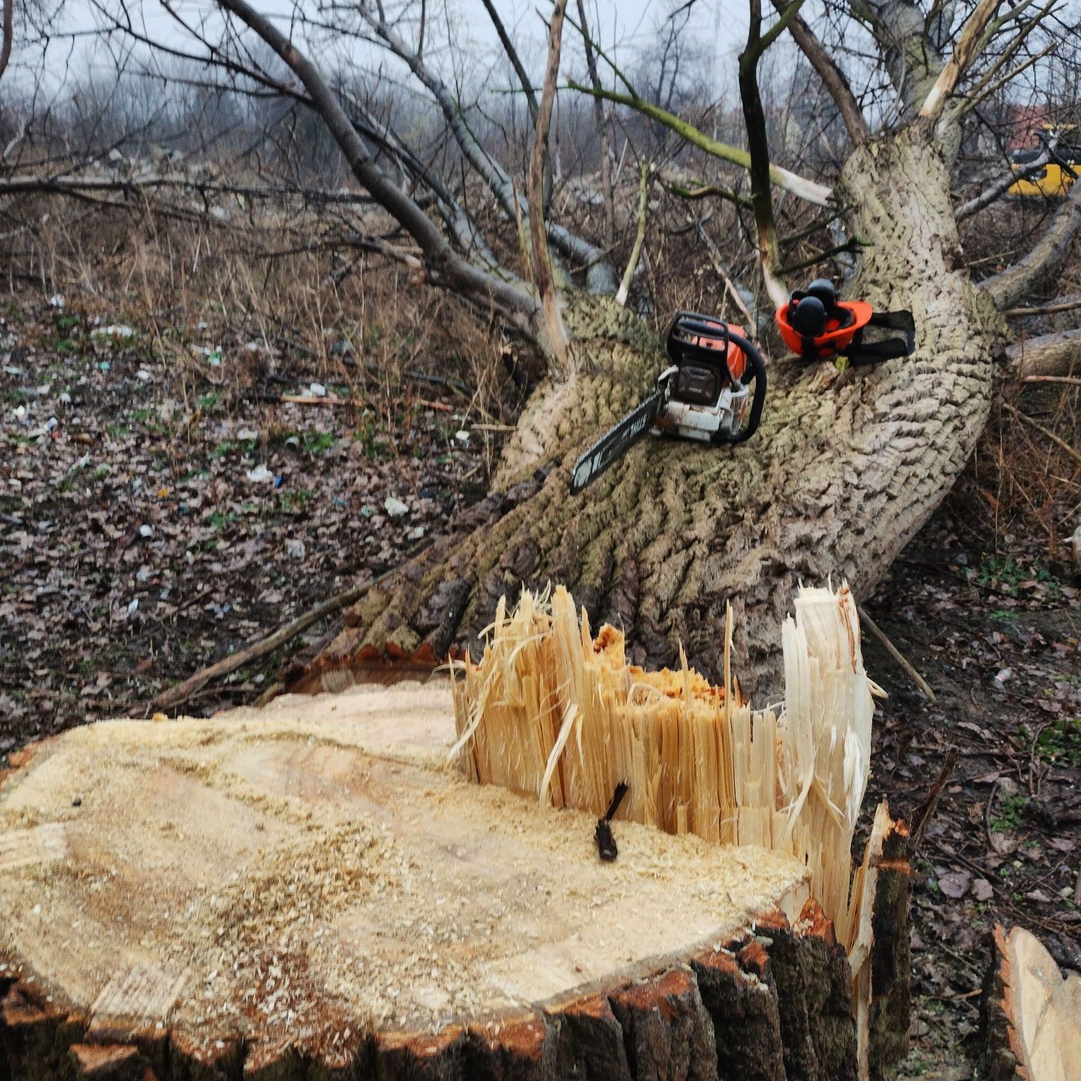
POLYGON ((851 973, 815 907, 795 926, 766 916, 749 936, 606 992, 433 1033, 358 1035, 330 1059, 288 1044, 208 1047, 168 1030, 95 1036, 9 976, 0 1070, 11 1081, 838 1081, 855 1077, 851 973))

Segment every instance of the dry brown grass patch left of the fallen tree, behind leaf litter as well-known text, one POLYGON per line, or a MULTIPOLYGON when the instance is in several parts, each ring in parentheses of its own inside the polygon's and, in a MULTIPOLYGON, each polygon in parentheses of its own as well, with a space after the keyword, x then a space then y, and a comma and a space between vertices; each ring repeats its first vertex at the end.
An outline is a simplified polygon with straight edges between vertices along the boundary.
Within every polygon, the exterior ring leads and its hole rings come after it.
POLYGON ((9 284, 40 283, 65 297, 68 317, 137 329, 182 373, 189 410, 208 382, 230 396, 280 392, 294 382, 293 360, 364 401, 369 421, 390 437, 404 372, 453 386, 463 412, 512 418, 518 396, 499 334, 349 243, 359 231, 388 231, 389 219, 256 211, 236 198, 222 210, 228 219, 190 219, 157 203, 88 211, 41 200, 22 210, 34 227, 9 236, 9 284), (215 366, 215 348, 228 364, 215 366))

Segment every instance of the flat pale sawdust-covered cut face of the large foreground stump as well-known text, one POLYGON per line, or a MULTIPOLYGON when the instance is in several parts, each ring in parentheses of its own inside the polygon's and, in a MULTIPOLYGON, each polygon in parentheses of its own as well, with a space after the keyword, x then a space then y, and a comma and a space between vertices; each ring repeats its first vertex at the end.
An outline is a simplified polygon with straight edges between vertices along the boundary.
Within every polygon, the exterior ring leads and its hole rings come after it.
POLYGON ((166 1036, 198 1060, 243 1046, 249 1068, 289 1046, 344 1063, 373 1033, 441 1031, 435 1049, 579 1001, 609 1017, 598 988, 693 985, 703 951, 798 919, 797 862, 619 822, 601 863, 593 817, 468 784, 453 738, 429 682, 34 748, 0 787, 9 1043, 36 1010, 75 1026, 86 1076, 166 1036))

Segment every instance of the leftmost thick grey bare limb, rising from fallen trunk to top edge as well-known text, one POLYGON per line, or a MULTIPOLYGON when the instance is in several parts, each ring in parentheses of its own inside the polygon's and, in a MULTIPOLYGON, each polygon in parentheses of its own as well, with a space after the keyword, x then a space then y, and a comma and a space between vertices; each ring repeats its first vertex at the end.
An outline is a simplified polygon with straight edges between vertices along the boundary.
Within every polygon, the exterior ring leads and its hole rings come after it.
POLYGON ((334 136, 353 175, 417 242, 426 280, 497 311, 522 330, 535 332, 537 307, 533 297, 509 282, 471 266, 453 252, 424 211, 372 160, 345 110, 307 56, 246 0, 218 2, 254 30, 304 83, 315 109, 334 136))

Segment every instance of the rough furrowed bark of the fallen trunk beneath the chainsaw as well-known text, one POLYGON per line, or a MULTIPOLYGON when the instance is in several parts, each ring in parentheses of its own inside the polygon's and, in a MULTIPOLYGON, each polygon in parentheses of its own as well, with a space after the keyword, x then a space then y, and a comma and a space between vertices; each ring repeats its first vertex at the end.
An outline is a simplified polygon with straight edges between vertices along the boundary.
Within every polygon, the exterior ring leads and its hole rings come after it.
POLYGON ((746 628, 740 679, 773 683, 774 628, 799 579, 844 576, 866 596, 949 491, 989 413, 1005 322, 959 257, 949 165, 915 128, 865 143, 841 198, 868 241, 854 295, 910 308, 917 355, 860 372, 772 364, 762 427, 732 450, 649 439, 585 493, 570 463, 660 370, 659 343, 600 298, 568 305, 576 373, 536 391, 492 496, 350 612, 297 682, 351 682, 365 645, 437 655, 476 641, 499 596, 566 585, 622 626, 635 659, 720 669, 718 619, 746 628), (763 680, 764 678, 764 680, 763 680))

